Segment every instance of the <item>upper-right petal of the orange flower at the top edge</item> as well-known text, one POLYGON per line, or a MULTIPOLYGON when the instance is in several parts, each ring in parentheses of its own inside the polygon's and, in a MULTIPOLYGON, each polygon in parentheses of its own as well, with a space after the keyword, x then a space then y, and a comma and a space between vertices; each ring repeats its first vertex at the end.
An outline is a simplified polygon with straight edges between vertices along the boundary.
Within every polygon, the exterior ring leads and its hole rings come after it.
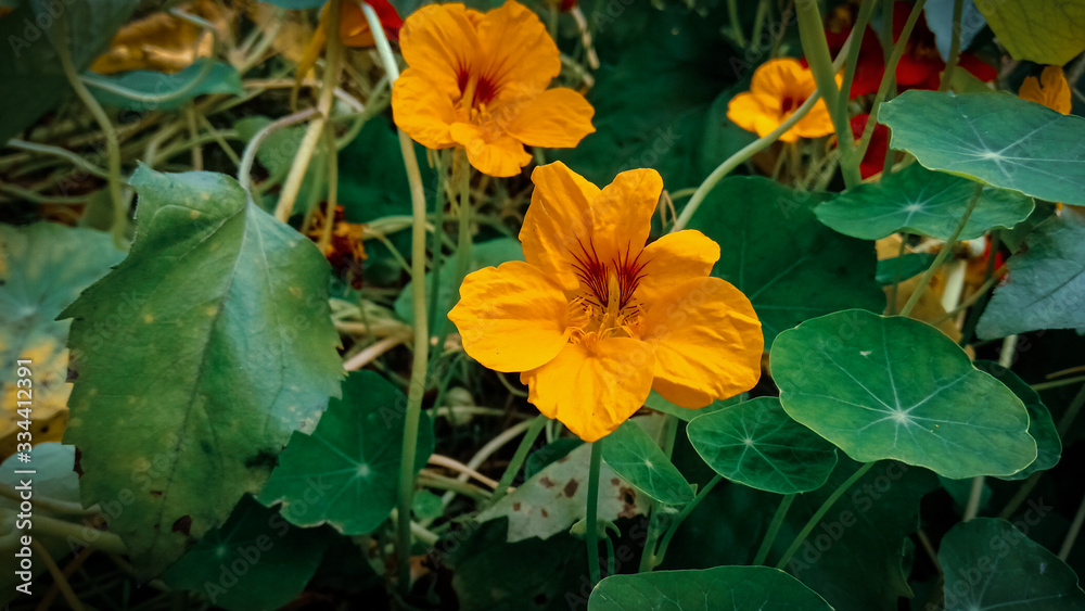
POLYGON ((476 71, 495 85, 498 102, 534 97, 561 72, 561 55, 546 26, 518 2, 506 2, 482 17, 478 43, 476 71))

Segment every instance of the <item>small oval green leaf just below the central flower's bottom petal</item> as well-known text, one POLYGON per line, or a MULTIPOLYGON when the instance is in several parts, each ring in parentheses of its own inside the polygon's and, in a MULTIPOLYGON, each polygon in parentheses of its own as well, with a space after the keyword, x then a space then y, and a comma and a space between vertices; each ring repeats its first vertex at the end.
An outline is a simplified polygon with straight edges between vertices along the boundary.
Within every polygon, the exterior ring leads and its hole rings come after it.
POLYGON ((689 482, 671 463, 638 419, 626 420, 603 444, 603 462, 620 478, 660 502, 679 505, 693 500, 689 482))

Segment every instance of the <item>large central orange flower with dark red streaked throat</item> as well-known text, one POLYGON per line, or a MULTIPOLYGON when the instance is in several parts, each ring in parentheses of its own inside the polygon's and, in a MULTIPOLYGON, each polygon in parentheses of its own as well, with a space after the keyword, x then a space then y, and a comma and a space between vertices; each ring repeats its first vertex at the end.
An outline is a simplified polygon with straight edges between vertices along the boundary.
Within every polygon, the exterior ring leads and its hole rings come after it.
POLYGON ((709 276, 719 246, 694 230, 644 245, 659 173, 624 171, 599 189, 553 163, 532 180, 525 262, 469 275, 448 315, 472 358, 520 371, 527 400, 586 442, 652 389, 700 408, 753 387, 761 322, 745 295, 709 276))

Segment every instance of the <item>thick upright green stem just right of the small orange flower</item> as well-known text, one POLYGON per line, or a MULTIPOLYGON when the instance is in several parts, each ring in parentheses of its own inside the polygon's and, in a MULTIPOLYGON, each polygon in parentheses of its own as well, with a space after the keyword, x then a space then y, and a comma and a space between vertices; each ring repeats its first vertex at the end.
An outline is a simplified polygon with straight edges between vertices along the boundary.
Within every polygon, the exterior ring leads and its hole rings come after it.
MULTIPOLYGON (((806 62, 814 74, 818 91, 821 91, 821 97, 825 98, 829 117, 837 131, 844 184, 851 188, 863 182, 863 177, 859 176, 859 164, 855 161, 855 137, 847 120, 847 92, 837 89, 837 71, 833 69, 832 58, 829 56, 829 42, 825 38, 825 27, 821 25, 821 11, 817 2, 795 2, 795 16, 799 18, 799 37, 802 39, 806 62)), ((852 31, 852 48, 859 47, 859 40, 855 40, 855 30, 852 31)), ((859 31, 858 36, 861 40, 863 31, 859 31)))

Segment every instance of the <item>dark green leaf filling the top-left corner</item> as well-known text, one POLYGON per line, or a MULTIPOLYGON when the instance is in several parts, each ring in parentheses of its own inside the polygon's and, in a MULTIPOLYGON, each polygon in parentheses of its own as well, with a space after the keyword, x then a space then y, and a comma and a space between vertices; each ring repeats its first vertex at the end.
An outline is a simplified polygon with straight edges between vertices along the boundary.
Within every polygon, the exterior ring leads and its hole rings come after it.
POLYGON ((139 4, 137 0, 63 2, 26 0, 0 20, 0 145, 53 110, 72 92, 58 43, 58 16, 65 20, 72 62, 81 71, 110 44, 113 34, 139 4))

